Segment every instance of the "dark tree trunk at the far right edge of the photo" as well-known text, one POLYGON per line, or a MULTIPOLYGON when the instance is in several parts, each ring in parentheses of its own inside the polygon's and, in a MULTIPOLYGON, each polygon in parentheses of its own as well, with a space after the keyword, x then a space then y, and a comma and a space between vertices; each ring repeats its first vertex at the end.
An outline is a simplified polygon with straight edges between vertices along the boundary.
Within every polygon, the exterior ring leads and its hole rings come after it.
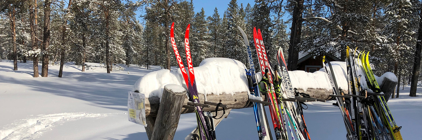
POLYGON ((413 73, 410 85, 410 93, 409 96, 416 97, 416 90, 418 86, 418 79, 419 79, 419 68, 421 66, 421 51, 422 51, 422 16, 419 15, 421 19, 419 19, 419 30, 418 30, 418 41, 416 43, 415 49, 415 61, 413 64, 413 73))

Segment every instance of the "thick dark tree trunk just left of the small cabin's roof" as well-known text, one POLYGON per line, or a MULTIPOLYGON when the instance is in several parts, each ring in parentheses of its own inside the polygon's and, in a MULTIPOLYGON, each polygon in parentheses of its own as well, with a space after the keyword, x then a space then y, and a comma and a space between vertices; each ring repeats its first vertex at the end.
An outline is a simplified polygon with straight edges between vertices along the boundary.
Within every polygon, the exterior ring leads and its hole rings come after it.
POLYGON ((289 58, 287 60, 287 68, 289 70, 297 70, 299 52, 297 51, 297 46, 300 43, 300 35, 302 34, 302 14, 303 14, 303 1, 304 0, 295 0, 297 5, 293 10, 293 19, 292 27, 290 34, 290 44, 289 44, 289 58))

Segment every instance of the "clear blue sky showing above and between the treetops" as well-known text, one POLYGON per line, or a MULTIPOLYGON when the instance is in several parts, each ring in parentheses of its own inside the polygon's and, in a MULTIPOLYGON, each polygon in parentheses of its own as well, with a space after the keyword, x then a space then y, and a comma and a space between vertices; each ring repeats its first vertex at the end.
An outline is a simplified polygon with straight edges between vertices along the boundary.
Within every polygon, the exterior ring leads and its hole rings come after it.
MULTIPOLYGON (((136 0, 133 0, 136 1, 136 0)), ((246 5, 249 3, 251 6, 253 6, 255 4, 255 0, 237 0, 238 5, 240 6, 241 3, 243 3, 243 8, 246 7, 246 5)), ((229 6, 228 4, 230 3, 230 0, 193 0, 193 6, 194 6, 194 11, 195 13, 198 13, 201 11, 201 8, 204 8, 205 11, 205 15, 208 16, 212 16, 212 14, 214 13, 214 8, 218 9, 218 13, 220 14, 221 17, 223 17, 223 13, 224 10, 227 9, 227 7, 229 6)), ((144 10, 141 9, 138 12, 136 12, 138 20, 143 22, 143 20, 141 18, 139 18, 139 16, 143 15, 144 10)))

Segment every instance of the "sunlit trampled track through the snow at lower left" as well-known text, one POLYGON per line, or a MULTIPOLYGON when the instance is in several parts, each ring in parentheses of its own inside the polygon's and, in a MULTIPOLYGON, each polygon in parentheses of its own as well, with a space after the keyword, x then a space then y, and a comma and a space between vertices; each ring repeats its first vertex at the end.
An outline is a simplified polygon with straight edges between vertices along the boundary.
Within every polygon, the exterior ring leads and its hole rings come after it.
POLYGON ((0 130, 1 140, 22 140, 33 139, 42 132, 51 130, 54 124, 62 124, 68 121, 83 118, 107 117, 111 114, 94 113, 58 113, 48 115, 38 115, 39 117, 22 119, 18 122, 8 124, 0 130))

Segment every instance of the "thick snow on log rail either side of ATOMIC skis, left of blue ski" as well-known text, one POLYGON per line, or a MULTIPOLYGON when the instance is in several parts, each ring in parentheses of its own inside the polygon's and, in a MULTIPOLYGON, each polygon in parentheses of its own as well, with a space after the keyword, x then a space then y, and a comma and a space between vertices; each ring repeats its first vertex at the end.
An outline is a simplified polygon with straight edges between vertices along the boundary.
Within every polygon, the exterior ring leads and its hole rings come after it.
MULTIPOLYGON (((234 94, 248 91, 246 67, 238 60, 229 58, 208 58, 199 67, 194 67, 198 93, 234 94)), ((165 85, 176 84, 186 87, 179 67, 148 73, 136 81, 132 91, 144 93, 146 97, 161 97, 165 85)))

